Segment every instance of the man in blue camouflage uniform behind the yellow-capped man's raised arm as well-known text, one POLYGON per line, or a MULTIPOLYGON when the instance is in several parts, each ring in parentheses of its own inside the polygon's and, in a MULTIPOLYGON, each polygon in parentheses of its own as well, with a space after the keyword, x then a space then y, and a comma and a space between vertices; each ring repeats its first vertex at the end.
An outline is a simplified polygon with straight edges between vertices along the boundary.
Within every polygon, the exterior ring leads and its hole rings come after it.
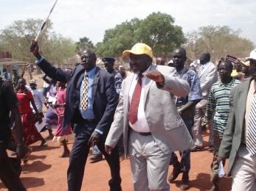
MULTIPOLYGON (((184 48, 177 48, 173 52, 173 65, 177 71, 176 77, 184 79, 190 84, 190 93, 185 97, 176 96, 175 104, 179 115, 181 115, 181 118, 192 137, 192 127, 194 123, 194 116, 196 114, 196 104, 203 99, 203 95, 201 92, 198 75, 195 71, 184 66, 186 60, 186 50, 184 48)), ((170 165, 173 165, 173 172, 170 173, 168 181, 174 181, 179 176, 179 173, 183 173, 180 187, 181 190, 185 190, 188 187, 189 181, 188 173, 190 170, 190 148, 185 151, 179 151, 179 154, 181 156, 181 162, 178 161, 178 157, 174 152, 171 154, 170 165)))

